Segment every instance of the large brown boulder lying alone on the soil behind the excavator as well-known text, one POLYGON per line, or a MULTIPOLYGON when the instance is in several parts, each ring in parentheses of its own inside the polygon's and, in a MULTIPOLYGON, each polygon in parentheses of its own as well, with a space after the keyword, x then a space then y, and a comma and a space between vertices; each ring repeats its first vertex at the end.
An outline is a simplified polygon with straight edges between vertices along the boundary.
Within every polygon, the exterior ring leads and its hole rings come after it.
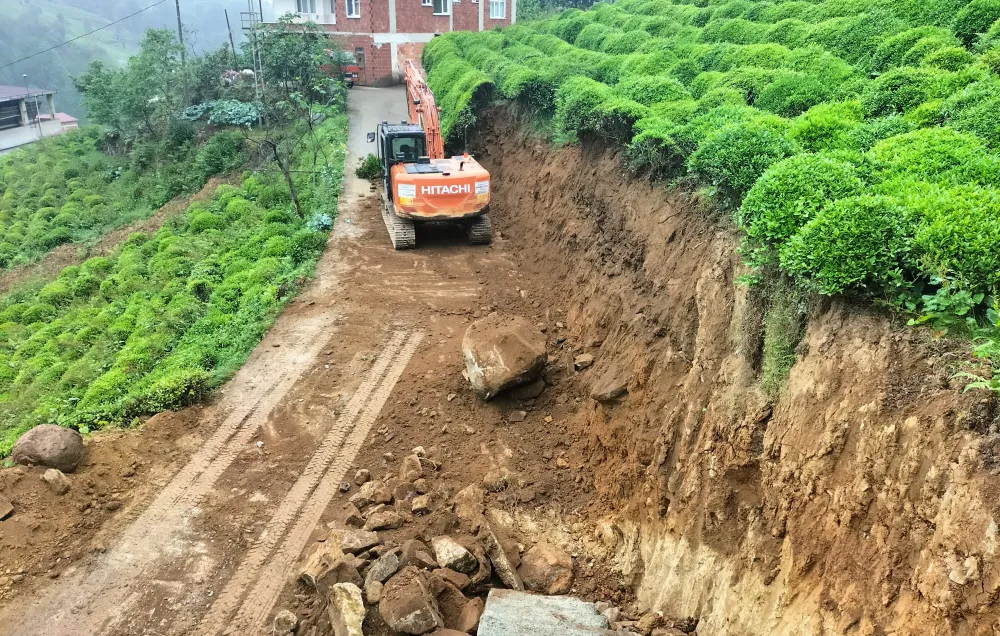
POLYGON ((469 326, 462 339, 465 371, 484 400, 536 380, 545 368, 545 336, 521 317, 490 314, 469 326))

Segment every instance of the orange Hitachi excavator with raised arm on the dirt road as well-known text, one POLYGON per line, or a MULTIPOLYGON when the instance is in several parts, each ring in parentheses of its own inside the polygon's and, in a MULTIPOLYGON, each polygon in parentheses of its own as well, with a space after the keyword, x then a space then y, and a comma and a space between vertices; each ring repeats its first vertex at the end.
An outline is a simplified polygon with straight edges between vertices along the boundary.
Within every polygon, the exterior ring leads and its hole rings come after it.
POLYGON ((472 244, 490 243, 490 173, 468 152, 445 156, 440 109, 412 61, 406 63, 406 100, 409 121, 383 121, 368 133, 382 160, 382 218, 393 247, 416 247, 414 224, 427 222, 459 223, 472 244))

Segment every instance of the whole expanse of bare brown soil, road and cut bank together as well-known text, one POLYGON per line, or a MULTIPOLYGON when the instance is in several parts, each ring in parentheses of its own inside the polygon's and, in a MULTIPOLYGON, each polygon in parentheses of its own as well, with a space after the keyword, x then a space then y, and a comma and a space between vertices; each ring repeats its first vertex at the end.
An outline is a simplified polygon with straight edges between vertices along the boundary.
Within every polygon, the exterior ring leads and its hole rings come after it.
POLYGON ((996 409, 951 379, 964 348, 816 303, 769 400, 766 299, 736 283, 725 219, 612 151, 488 120, 492 247, 439 228, 394 252, 351 185, 317 280, 213 404, 96 436, 63 497, 34 469, 0 472, 4 633, 263 634, 290 607, 325 634, 296 561, 339 520, 341 482, 415 446, 446 490, 513 471, 523 485, 489 504, 526 547, 570 546, 585 598, 634 591, 703 636, 991 633, 996 409), (483 403, 462 379, 461 337, 491 311, 545 330, 537 399, 483 403), (590 397, 619 381, 618 400, 590 397))

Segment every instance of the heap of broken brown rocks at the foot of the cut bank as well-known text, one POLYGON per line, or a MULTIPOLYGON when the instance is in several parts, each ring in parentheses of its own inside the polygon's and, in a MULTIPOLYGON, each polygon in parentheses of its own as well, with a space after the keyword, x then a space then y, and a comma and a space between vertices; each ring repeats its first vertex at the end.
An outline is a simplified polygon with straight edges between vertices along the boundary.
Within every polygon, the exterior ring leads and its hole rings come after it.
MULTIPOLYGON (((343 523, 331 524, 300 567, 312 607, 326 605, 335 636, 475 634, 493 588, 570 590, 569 554, 537 544, 522 555, 487 513, 482 486, 453 495, 433 487, 440 466, 423 449, 414 451, 383 479, 358 471, 354 483, 360 487, 342 512, 343 523)), ((287 624, 286 616, 275 633, 287 634, 278 629, 287 624)), ((296 633, 316 631, 303 620, 296 633)))

